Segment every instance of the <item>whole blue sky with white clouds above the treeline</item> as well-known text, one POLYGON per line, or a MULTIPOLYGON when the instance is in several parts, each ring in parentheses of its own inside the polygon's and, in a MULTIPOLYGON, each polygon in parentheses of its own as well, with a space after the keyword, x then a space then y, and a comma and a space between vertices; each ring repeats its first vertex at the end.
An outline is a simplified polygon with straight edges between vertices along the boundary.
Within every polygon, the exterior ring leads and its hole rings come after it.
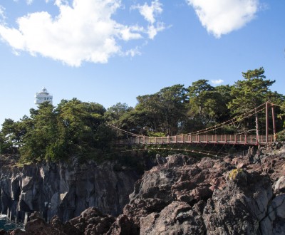
POLYGON ((43 87, 53 105, 135 106, 170 85, 232 85, 263 66, 284 94, 284 12, 284 0, 0 1, 0 123, 28 115, 43 87))

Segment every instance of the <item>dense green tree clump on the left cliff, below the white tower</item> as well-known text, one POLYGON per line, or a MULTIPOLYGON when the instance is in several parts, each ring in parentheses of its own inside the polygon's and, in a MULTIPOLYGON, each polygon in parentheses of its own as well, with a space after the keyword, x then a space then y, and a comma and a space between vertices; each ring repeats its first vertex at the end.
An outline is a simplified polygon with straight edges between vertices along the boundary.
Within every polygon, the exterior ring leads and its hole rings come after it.
POLYGON ((105 108, 73 98, 30 110, 19 122, 6 119, 1 130, 1 153, 19 151, 24 162, 57 161, 68 156, 89 159, 110 144, 112 131, 105 130, 105 108))

